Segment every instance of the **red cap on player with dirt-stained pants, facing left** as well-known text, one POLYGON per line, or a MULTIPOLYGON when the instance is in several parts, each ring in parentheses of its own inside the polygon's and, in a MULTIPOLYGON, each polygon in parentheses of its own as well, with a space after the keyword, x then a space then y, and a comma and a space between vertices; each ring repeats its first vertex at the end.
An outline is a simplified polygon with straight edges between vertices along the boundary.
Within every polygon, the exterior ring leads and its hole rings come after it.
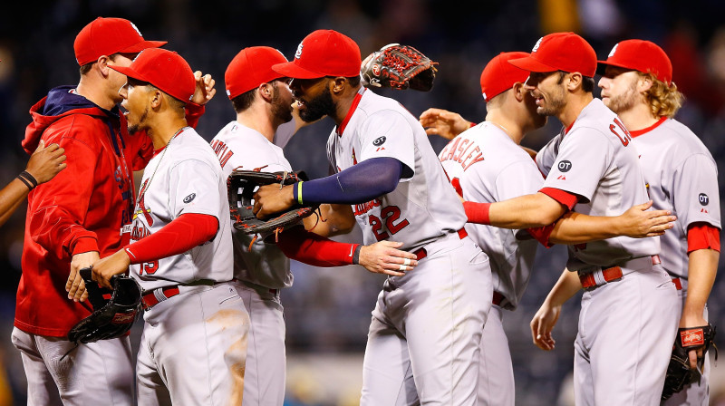
POLYGON ((189 102, 197 80, 184 58, 172 51, 149 48, 141 51, 131 66, 109 66, 112 70, 141 82, 149 82, 181 102, 189 102))

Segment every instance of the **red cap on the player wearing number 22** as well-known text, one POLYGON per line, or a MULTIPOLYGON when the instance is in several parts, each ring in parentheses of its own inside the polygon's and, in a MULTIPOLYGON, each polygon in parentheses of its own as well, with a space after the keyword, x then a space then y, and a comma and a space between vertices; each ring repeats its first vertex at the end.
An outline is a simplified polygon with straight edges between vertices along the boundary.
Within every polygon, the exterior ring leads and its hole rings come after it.
POLYGON ((360 48, 350 37, 333 30, 317 30, 297 47, 295 59, 272 66, 276 73, 295 79, 359 76, 360 48))

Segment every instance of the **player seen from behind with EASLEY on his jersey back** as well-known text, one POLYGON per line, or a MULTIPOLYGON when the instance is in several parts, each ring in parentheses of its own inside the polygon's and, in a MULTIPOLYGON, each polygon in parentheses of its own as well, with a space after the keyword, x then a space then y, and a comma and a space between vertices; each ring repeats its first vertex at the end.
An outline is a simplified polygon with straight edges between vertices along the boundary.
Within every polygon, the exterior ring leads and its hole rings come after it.
MULTIPOLYGON (((546 116, 536 113, 536 104, 525 89, 528 72, 508 63, 511 59, 526 57, 528 53, 500 53, 481 73, 481 92, 487 102, 486 121, 456 137, 441 150, 439 159, 451 184, 467 201, 493 202, 536 193, 544 179, 529 154, 519 147, 528 131, 546 123, 546 116), (473 151, 473 153, 469 153, 473 151), (471 157, 471 159, 467 157, 471 157), (476 157, 472 159, 472 157, 476 157)), ((450 132, 453 126, 438 125, 446 120, 446 112, 426 111, 421 124, 437 127, 435 133, 450 132), (437 117, 436 117, 437 116, 437 117)), ((461 119, 462 120, 462 119, 461 119)), ((468 128, 468 122, 459 126, 468 128)), ((430 130, 430 129, 429 129, 430 130)), ((647 205, 643 205, 648 207, 647 205)), ((652 211, 639 208, 626 213, 651 216, 652 211)), ((603 218, 604 219, 604 218, 603 218)), ((613 218, 614 219, 614 218, 613 218)), ((636 224, 634 218, 622 218, 623 225, 636 224)), ((667 220, 671 220, 668 216, 667 220)), ((579 216, 572 226, 583 230, 583 221, 598 218, 579 216)), ((552 238, 565 240, 569 219, 560 220, 552 238), (561 234, 556 236, 556 234, 561 234)), ((616 225, 599 224, 594 228, 616 229, 616 225)), ((514 372, 503 325, 502 309, 516 310, 527 287, 536 256, 536 240, 520 239, 516 230, 467 224, 469 236, 491 258, 493 276, 493 306, 481 337, 481 363, 478 376, 478 404, 515 404, 514 372)), ((570 234, 570 233, 569 233, 570 234)), ((574 238, 580 242, 579 237, 574 238)))

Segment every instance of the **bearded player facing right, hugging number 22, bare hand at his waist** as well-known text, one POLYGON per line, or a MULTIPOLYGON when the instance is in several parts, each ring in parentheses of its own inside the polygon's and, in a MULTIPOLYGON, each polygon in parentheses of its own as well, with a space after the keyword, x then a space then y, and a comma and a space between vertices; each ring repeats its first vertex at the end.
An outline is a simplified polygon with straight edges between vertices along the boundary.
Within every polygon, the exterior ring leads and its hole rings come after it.
MULTIPOLYGON (((285 56, 274 48, 255 46, 243 49, 229 63, 225 83, 227 96, 237 111, 237 120, 229 122, 211 140, 225 177, 237 168, 292 171, 282 148, 275 145, 279 127, 285 122, 299 120, 298 117, 293 120, 292 92, 287 86, 287 78, 272 70, 272 65, 285 62, 285 56)), ((301 121, 295 125, 295 130, 305 124, 301 121)), ((344 208, 350 211, 349 205, 344 208)), ((327 217, 324 222, 315 216, 306 219, 311 220, 309 227, 315 233, 332 235, 353 227, 352 212, 349 218, 327 217)), ((285 230, 278 236, 277 245, 266 244, 263 238, 252 242, 252 236, 236 230, 232 230, 232 235, 238 292, 251 320, 247 335, 244 404, 281 405, 285 400, 286 357, 285 318, 279 294, 281 289, 293 283, 285 254, 318 266, 350 265, 353 263, 350 253, 358 245, 323 239, 305 242, 301 227, 285 230), (310 244, 322 247, 310 247, 310 244)), ((412 254, 392 248, 396 246, 384 246, 392 244, 387 241, 376 243, 386 247, 381 256, 403 256, 416 262, 412 254)), ((365 258, 368 247, 362 247, 361 251, 360 257, 365 258)), ((403 259, 391 264, 390 271, 400 271, 403 259)), ((364 264, 364 259, 360 263, 364 264)))

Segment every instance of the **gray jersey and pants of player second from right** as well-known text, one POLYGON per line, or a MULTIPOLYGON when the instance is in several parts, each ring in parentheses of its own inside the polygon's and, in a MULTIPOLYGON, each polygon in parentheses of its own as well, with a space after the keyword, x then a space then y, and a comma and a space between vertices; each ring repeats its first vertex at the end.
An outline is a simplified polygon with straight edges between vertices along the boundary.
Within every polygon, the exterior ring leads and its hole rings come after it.
MULTIPOLYGON (((536 161, 547 173, 545 188, 580 197, 576 212, 617 216, 648 200, 629 131, 598 99, 536 161)), ((569 270, 589 273, 616 265, 623 273, 582 297, 575 340, 577 404, 659 404, 672 352, 672 343, 662 337, 675 333, 678 318, 672 279, 651 258, 659 248, 656 237, 569 247, 569 270)))

